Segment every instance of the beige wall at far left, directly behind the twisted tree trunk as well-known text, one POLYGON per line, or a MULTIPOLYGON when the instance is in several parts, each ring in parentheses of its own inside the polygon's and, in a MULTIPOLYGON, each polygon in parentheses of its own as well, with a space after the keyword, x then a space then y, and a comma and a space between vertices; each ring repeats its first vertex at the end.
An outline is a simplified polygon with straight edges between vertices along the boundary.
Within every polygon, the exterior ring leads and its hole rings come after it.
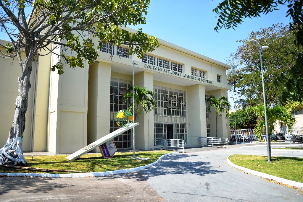
MULTIPOLYGON (((0 40, 0 44, 7 44, 7 41, 0 40)), ((5 53, 5 48, 0 48, 5 53)), ((22 55, 22 60, 25 57, 22 55)), ((37 61, 37 60, 36 60, 37 61)), ((28 108, 25 114, 25 130, 23 133, 22 150, 31 150, 31 129, 32 129, 32 112, 33 100, 35 92, 35 71, 37 63, 32 64, 32 73, 30 75, 30 83, 32 87, 28 92, 28 108)), ((8 138, 9 130, 12 127, 15 115, 15 102, 18 96, 18 77, 22 74, 22 69, 17 58, 0 57, 0 148, 5 145, 8 138)))

